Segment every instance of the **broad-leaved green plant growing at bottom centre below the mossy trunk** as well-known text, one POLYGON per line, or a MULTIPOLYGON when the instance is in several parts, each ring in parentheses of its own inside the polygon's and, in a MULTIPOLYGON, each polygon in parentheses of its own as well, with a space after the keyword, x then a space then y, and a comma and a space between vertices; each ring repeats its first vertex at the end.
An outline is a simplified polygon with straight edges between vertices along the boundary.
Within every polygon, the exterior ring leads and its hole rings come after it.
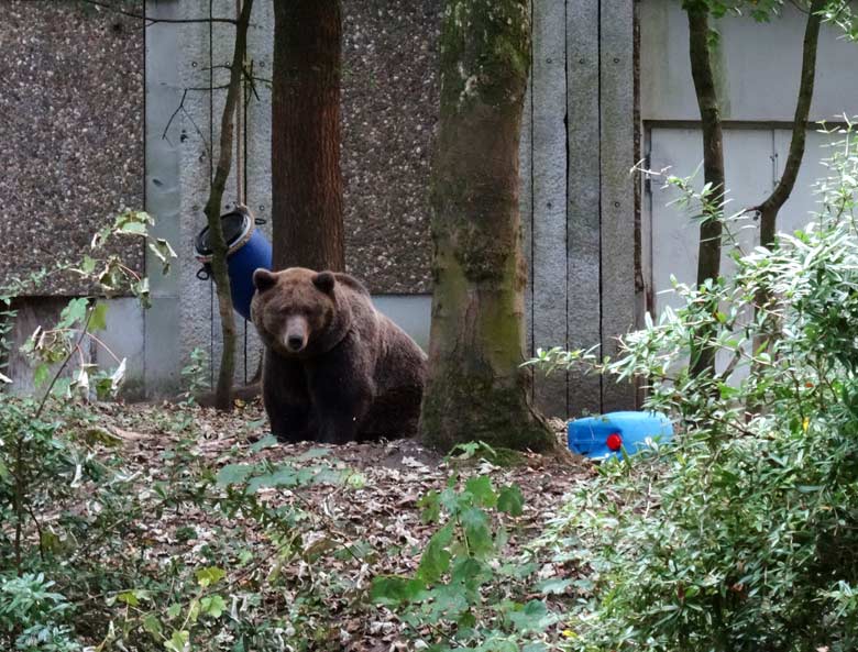
POLYGON ((424 520, 439 529, 414 576, 373 581, 373 601, 395 610, 415 643, 432 652, 547 650, 542 632, 554 616, 542 600, 520 598, 535 567, 504 560, 502 516, 521 515, 521 491, 497 490, 487 476, 469 478, 461 490, 458 484, 453 476, 420 500, 424 520))

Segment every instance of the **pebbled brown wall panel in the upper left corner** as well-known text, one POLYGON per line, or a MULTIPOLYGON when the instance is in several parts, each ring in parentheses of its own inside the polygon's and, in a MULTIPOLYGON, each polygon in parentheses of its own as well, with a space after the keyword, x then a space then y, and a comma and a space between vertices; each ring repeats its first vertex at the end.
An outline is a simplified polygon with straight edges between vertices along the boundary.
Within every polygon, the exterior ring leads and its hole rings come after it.
MULTIPOLYGON (((143 206, 144 32, 78 0, 4 0, 0 45, 2 285, 79 259, 117 212, 143 206)), ((139 242, 121 253, 143 268, 139 242)), ((81 291, 67 278, 37 294, 81 291)))

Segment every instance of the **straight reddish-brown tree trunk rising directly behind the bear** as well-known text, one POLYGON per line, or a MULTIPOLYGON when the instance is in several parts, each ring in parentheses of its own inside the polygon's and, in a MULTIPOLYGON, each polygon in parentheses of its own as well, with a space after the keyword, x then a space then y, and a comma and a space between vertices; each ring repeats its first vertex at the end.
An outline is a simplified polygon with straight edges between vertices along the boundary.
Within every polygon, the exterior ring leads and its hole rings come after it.
POLYGON ((274 0, 274 268, 345 268, 339 0, 274 0))

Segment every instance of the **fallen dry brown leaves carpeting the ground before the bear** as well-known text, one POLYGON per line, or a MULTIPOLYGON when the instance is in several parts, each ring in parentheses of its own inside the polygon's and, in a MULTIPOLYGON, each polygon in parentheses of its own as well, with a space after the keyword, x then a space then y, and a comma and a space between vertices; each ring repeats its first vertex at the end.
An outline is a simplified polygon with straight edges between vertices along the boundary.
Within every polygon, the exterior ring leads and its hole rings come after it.
MULTIPOLYGON (((195 433, 190 453, 216 472, 226 464, 262 460, 314 465, 318 460, 301 461, 301 455, 324 447, 312 443, 278 444, 252 453, 253 442, 267 434, 267 422, 257 404, 242 404, 232 415, 169 404, 100 409, 103 419, 99 429, 121 442, 128 472, 145 478, 160 477, 165 452, 182 439, 178 429, 184 429, 185 438, 189 431, 195 433)), ((562 422, 554 426, 562 430, 562 422)), ((407 574, 416 570, 420 553, 436 530, 435 524, 421 521, 418 501, 430 490, 442 489, 452 469, 440 455, 413 440, 331 446, 324 460, 356 472, 355 482, 261 491, 266 500, 299 505, 309 515, 310 523, 301 541, 305 556, 326 555, 323 567, 301 562, 278 572, 294 577, 296 583, 318 581, 329 573, 348 578, 340 599, 327 605, 329 612, 337 617, 333 630, 339 641, 331 649, 361 652, 414 649, 406 643, 400 625, 392 614, 367 608, 366 589, 375 575, 407 574), (352 546, 355 550, 369 546, 375 553, 334 559, 326 554, 334 546, 346 551, 352 546)), ((520 487, 525 510, 512 532, 509 555, 538 535, 544 523, 557 515, 563 495, 594 473, 590 463, 562 453, 553 457, 525 453, 522 463, 514 467, 502 468, 483 461, 459 471, 463 476, 487 474, 495 486, 517 484, 520 487)), ((222 515, 204 513, 194 507, 183 509, 180 518, 165 511, 160 520, 141 523, 152 546, 146 554, 161 563, 174 555, 190 561, 216 537, 216 523, 244 528, 248 545, 258 549, 272 545, 264 532, 253 529, 252 521, 223 523, 222 519, 222 515), (194 537, 188 540, 177 537, 177 530, 188 526, 194 528, 194 537)), ((543 568, 541 574, 550 576, 557 571, 543 568)))

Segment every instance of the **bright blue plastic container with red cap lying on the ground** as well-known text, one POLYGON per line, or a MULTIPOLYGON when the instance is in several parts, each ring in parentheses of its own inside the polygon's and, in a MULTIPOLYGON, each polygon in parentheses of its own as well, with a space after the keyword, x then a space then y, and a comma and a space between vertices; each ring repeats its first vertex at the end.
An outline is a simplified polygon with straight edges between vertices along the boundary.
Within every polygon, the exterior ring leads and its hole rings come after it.
POLYGON ((646 447, 647 439, 666 442, 673 436, 673 426, 660 412, 608 412, 569 422, 569 450, 605 460, 625 449, 629 455, 646 447))

